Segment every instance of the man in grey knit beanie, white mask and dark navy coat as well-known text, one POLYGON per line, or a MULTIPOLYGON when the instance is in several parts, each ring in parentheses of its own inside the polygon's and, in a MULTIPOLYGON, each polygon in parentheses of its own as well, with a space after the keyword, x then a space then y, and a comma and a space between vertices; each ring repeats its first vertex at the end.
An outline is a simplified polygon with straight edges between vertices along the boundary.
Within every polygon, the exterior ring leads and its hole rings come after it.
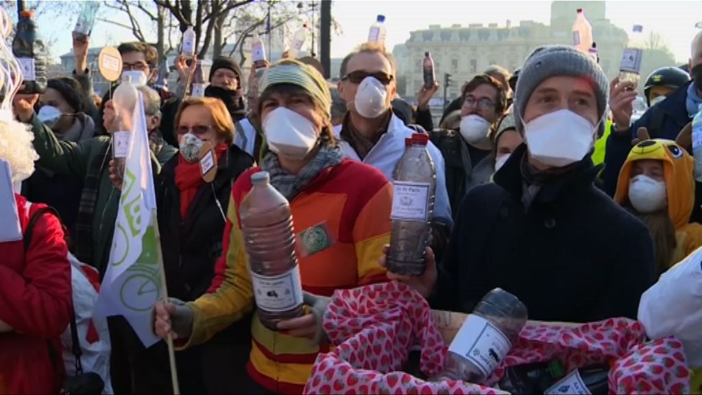
POLYGON ((423 276, 388 276, 436 309, 470 312, 502 287, 534 320, 636 318, 654 283, 654 249, 645 226, 592 185, 590 150, 607 93, 607 77, 587 54, 570 46, 531 53, 514 106, 526 143, 495 183, 466 195, 438 280, 430 253, 423 276))

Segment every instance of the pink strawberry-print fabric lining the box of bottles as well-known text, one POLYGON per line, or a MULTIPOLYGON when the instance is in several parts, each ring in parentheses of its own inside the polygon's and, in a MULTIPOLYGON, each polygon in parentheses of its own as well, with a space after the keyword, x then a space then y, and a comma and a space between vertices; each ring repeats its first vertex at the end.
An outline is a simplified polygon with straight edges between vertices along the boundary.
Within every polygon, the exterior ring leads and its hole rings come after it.
POLYGON ((427 302, 399 283, 334 292, 324 330, 335 349, 319 354, 305 394, 501 394, 491 388, 505 368, 558 358, 570 371, 609 362, 611 394, 689 393, 690 374, 682 344, 673 337, 645 343, 642 325, 611 318, 574 328, 527 325, 517 344, 485 386, 428 382, 402 373, 409 350, 420 347, 420 368, 439 373, 448 347, 427 302))

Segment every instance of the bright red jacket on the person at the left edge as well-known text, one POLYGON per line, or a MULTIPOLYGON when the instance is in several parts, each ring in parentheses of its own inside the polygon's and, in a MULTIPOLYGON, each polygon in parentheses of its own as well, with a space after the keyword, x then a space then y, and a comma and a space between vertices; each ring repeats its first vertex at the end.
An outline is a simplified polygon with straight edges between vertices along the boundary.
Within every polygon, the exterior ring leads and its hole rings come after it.
MULTIPOLYGON (((15 195, 22 233, 44 205, 15 195)), ((25 236, 26 237, 26 236, 25 236)), ((63 362, 59 336, 71 313, 71 266, 60 222, 43 214, 25 254, 22 240, 0 242, 0 394, 48 394, 60 389, 63 362), (49 357, 54 344, 56 363, 49 357)))

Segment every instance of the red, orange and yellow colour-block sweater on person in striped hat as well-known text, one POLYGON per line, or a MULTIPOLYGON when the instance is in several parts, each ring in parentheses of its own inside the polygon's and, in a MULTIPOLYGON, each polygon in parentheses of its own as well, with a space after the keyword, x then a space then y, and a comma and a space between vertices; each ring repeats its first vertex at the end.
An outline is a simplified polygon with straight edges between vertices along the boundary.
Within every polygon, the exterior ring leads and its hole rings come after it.
MULTIPOLYGON (((251 189, 251 174, 257 171, 260 169, 249 169, 234 183, 223 257, 217 263, 210 293, 190 304, 194 322, 187 345, 205 342, 256 305, 238 209, 251 189)), ((340 288, 387 280, 378 259, 383 245, 390 242, 392 186, 380 171, 343 160, 324 169, 300 190, 290 207, 298 235, 324 224, 322 228, 331 240, 314 254, 302 254, 296 246, 303 290, 329 296, 340 288)), ((249 375, 279 393, 301 394, 317 354, 329 349, 267 330, 258 317, 253 318, 251 334, 249 375)))

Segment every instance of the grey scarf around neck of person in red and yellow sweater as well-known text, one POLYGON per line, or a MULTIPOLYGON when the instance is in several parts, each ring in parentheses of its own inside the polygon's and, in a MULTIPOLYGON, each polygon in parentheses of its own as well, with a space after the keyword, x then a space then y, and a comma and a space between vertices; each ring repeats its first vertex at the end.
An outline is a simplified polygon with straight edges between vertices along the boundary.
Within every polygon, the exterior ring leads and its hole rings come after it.
POLYGON ((270 176, 270 184, 282 193, 290 202, 295 198, 300 190, 307 186, 310 181, 316 178, 327 167, 333 167, 341 163, 344 154, 339 145, 325 145, 319 147, 317 155, 310 162, 307 162, 298 174, 290 174, 280 166, 278 156, 268 153, 261 169, 267 171, 270 176))

